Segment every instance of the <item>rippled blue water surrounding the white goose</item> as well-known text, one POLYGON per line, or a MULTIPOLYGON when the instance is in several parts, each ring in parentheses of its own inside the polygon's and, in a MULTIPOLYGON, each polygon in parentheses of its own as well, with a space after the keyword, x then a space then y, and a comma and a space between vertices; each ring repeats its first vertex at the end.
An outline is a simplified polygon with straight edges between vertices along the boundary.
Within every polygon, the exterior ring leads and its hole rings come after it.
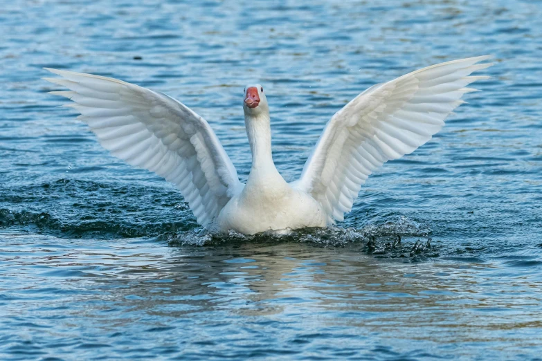
POLYGON ((0 3, 1 360, 541 360, 539 1, 0 3), (172 95, 243 181, 260 82, 294 180, 368 86, 485 54, 482 91, 338 228, 283 238, 197 237, 175 187, 109 156, 40 79, 172 95))

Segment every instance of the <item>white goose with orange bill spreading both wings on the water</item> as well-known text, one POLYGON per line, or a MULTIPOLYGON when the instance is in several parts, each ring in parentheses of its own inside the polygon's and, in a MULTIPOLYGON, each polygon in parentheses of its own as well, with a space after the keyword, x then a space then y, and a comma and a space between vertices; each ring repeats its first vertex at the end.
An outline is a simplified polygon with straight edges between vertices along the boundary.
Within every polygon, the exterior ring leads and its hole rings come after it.
POLYGON ((289 232, 343 221, 375 169, 412 153, 444 126, 469 76, 489 56, 428 66, 359 94, 327 122, 298 180, 287 183, 271 156, 271 118, 264 88, 244 89, 252 166, 246 184, 204 118, 169 95, 110 77, 45 68, 44 80, 69 91, 100 144, 130 165, 177 185, 205 230, 289 232), (482 62, 482 63, 480 63, 482 62))

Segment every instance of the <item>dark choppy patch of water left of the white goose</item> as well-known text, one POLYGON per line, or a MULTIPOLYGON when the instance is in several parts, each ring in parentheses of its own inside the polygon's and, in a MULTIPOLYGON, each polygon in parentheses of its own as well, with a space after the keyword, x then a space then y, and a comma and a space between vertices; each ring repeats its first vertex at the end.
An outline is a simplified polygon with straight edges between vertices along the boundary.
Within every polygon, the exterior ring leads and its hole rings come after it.
POLYGON ((58 237, 100 239, 157 237, 193 228, 195 223, 182 219, 181 214, 187 209, 179 203, 180 195, 157 190, 71 179, 8 187, 0 205, 17 206, 0 208, 0 228, 32 227, 58 237), (147 198, 148 205, 143 208, 134 205, 131 196, 147 198), (40 212, 47 203, 51 208, 40 212), (152 209, 160 210, 156 214, 149 212, 152 209), (172 221, 167 220, 166 213, 172 221))

